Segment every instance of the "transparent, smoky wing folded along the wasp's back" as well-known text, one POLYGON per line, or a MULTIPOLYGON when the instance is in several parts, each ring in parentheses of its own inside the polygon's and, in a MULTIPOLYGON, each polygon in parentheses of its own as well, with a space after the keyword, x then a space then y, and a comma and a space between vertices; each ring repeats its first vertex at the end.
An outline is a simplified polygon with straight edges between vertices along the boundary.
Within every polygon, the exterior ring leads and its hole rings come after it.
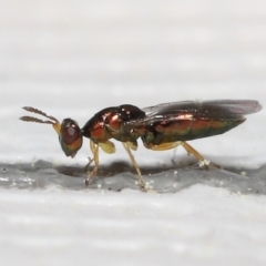
POLYGON ((258 112, 262 105, 253 100, 213 100, 163 103, 142 109, 146 116, 126 122, 125 126, 147 125, 160 121, 234 120, 258 112))

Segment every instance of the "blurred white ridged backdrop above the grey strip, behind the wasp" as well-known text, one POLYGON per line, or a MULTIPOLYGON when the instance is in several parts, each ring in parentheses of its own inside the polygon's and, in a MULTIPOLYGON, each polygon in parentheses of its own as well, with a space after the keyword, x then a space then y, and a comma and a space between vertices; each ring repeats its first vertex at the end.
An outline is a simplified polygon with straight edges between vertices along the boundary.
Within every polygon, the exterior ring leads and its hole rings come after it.
MULTIPOLYGON (((3 1, 1 160, 28 161, 29 147, 34 146, 37 157, 64 160, 48 126, 17 121, 24 105, 59 120, 73 117, 82 125, 101 109, 122 103, 144 108, 233 98, 264 104, 264 6, 263 1, 3 1)), ((232 140, 241 146, 241 155, 254 155, 264 139, 259 132, 264 119, 265 113, 258 113, 242 130, 222 136, 221 151, 216 139, 196 145, 206 154, 224 156, 229 150, 229 155, 239 155, 238 149, 231 149, 227 140, 232 140), (248 131, 247 137, 243 131, 248 131), (252 149, 246 145, 250 140, 252 149)))

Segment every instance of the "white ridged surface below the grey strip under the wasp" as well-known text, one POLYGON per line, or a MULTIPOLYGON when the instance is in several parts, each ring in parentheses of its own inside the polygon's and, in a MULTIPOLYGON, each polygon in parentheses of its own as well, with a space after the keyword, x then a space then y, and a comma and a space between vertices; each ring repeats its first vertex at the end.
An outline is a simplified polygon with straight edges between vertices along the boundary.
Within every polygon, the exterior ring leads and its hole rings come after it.
POLYGON ((265 206, 200 185, 163 196, 1 190, 1 263, 264 265, 265 206))

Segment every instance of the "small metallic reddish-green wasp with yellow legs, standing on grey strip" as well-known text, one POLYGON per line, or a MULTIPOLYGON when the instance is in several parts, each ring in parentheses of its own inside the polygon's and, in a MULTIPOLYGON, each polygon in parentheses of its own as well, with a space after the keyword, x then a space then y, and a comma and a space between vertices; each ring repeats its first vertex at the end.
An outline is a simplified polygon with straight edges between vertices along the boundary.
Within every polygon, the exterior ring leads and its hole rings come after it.
POLYGON ((145 183, 131 152, 136 151, 137 139, 142 140, 146 149, 153 151, 165 151, 182 145, 188 154, 195 156, 200 166, 219 167, 205 160, 186 141, 223 134, 243 123, 244 115, 258 112, 262 106, 253 100, 183 101, 145 109, 123 104, 103 109, 82 129, 72 119, 64 119, 60 124, 57 119, 38 109, 23 109, 49 119, 44 121, 32 116, 20 117, 22 121, 52 124, 66 156, 75 156, 82 146, 82 136, 90 139, 93 154, 91 162, 94 161, 94 167, 88 174, 86 185, 99 168, 99 146, 106 153, 114 153, 115 147, 110 139, 122 142, 137 173, 140 188, 144 191, 145 183))

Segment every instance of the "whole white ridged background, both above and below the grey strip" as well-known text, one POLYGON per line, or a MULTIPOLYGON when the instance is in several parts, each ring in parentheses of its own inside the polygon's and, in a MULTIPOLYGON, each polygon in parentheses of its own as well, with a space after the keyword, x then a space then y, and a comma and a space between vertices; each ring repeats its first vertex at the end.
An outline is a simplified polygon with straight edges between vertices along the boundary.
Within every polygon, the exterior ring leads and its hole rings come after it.
MULTIPOLYGON (((223 166, 253 168, 247 185, 262 184, 249 194, 237 182, 217 188, 200 177, 201 184, 164 194, 88 190, 82 178, 72 187, 71 181, 60 183, 71 177, 45 163, 28 178, 27 165, 38 160, 82 167, 91 154, 84 141, 78 156, 66 158, 51 126, 18 120, 24 105, 81 125, 122 103, 256 99, 266 106, 265 1, 1 0, 0 6, 1 265, 265 265, 266 174, 260 170, 266 161, 265 110, 232 132, 191 143, 223 166), (58 185, 34 183, 49 175, 58 185), (19 190, 18 183, 27 186, 19 190)), ((101 153, 103 165, 129 161, 116 146, 115 155, 101 153)), ((135 153, 141 166, 153 170, 171 165, 173 156, 141 145, 135 153)), ((186 158, 182 149, 178 157, 186 158)), ((193 173, 188 182, 202 175, 193 173)), ((215 173, 211 181, 221 183, 215 173)))

